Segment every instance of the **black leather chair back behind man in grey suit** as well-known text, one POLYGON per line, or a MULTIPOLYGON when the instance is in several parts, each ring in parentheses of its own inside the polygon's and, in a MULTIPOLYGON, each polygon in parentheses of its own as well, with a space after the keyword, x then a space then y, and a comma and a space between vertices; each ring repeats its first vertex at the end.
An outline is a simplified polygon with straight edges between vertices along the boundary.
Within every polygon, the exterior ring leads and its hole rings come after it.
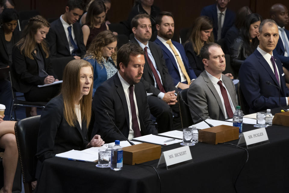
POLYGON ((185 103, 188 104, 187 92, 188 92, 188 89, 181 90, 178 92, 178 96, 177 96, 182 128, 193 125, 193 119, 191 117, 190 109, 185 104, 185 103), (185 103, 183 100, 185 101, 185 103))

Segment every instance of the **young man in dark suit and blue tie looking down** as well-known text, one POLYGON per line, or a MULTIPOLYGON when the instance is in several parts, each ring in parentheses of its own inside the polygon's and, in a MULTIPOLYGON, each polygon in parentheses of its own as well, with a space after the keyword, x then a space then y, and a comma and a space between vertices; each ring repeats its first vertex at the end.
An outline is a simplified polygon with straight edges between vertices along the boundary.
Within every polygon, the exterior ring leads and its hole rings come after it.
POLYGON ((82 1, 69 0, 65 13, 51 23, 46 38, 51 58, 73 56, 75 59, 80 59, 85 55, 83 34, 77 22, 83 14, 84 7, 82 1))

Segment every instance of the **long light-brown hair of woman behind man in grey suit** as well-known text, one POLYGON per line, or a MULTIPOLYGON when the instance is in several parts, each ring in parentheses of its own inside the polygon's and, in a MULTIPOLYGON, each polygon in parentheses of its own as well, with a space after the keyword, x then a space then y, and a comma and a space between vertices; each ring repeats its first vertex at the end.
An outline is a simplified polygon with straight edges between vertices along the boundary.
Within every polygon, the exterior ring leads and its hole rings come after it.
MULTIPOLYGON (((191 35, 187 42, 192 43, 194 51, 197 53, 197 55, 200 55, 201 48, 204 46, 204 44, 201 42, 200 32, 202 30, 210 30, 212 28, 213 22, 207 16, 197 17, 197 19, 194 21, 191 29, 191 35)), ((213 32, 211 32, 211 36, 205 43, 210 42, 214 42, 213 32)))

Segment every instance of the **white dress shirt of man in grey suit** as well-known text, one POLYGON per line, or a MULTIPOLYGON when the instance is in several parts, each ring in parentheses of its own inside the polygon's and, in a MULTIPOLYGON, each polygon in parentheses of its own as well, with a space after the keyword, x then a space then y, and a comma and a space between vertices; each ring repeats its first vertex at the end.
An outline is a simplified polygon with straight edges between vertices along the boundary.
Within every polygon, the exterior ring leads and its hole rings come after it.
MULTIPOLYGON (((210 78, 211 82, 213 83, 214 87, 215 87, 216 90, 217 90, 217 93, 219 94, 219 96, 220 96, 220 98, 221 98, 222 105, 223 105, 223 109, 224 109, 224 112, 225 112, 225 119, 228 119, 229 116, 228 116, 228 113, 227 113, 227 111, 226 111, 226 107, 225 107, 225 103, 224 103, 224 99, 223 99, 223 96, 222 96, 222 93, 221 93, 220 86, 219 86, 219 84, 218 84, 219 81, 222 81, 222 75, 221 75, 221 78, 218 79, 218 78, 212 76, 209 72, 206 71, 206 73, 207 73, 208 77, 210 78)), ((228 95, 228 98, 229 98, 230 106, 231 106, 231 109, 232 109, 233 114, 234 114, 235 111, 236 111, 236 109, 235 109, 235 106, 234 106, 234 104, 233 104, 233 102, 232 102, 230 93, 228 92, 228 89, 226 88, 226 86, 225 86, 225 84, 224 84, 223 81, 222 81, 222 85, 223 85, 223 87, 225 87, 225 89, 226 89, 226 91, 227 91, 227 95, 228 95)))

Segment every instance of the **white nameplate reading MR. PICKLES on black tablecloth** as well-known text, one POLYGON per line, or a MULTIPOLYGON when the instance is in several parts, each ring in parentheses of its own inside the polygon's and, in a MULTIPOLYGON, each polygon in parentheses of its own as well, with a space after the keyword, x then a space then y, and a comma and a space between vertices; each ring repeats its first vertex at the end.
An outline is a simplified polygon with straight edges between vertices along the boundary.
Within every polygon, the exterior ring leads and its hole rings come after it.
POLYGON ((243 132, 239 139, 238 145, 246 143, 247 147, 249 147, 253 144, 261 144, 261 142, 263 142, 262 144, 269 143, 268 135, 264 127, 243 132))

